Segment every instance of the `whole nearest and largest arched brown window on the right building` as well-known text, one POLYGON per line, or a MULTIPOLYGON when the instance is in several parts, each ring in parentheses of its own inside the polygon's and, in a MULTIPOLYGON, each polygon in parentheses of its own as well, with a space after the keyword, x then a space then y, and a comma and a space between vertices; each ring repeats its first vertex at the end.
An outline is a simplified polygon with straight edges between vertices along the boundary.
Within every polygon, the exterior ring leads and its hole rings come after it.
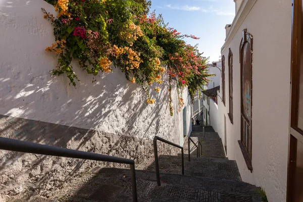
POLYGON ((241 142, 240 147, 247 165, 251 166, 251 101, 252 101, 252 36, 243 30, 240 44, 241 67, 241 142))

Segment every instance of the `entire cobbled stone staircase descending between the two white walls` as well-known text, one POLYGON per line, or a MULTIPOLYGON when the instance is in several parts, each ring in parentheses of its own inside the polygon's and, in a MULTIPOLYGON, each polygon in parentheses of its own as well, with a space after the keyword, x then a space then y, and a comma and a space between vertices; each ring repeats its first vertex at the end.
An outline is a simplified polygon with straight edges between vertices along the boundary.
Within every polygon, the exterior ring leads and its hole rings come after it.
MULTIPOLYGON (((262 201, 258 194, 259 187, 241 181, 236 162, 225 157, 221 138, 212 127, 207 127, 204 134, 201 127, 194 127, 191 138, 202 143, 202 151, 201 157, 197 158, 197 151, 191 150, 190 162, 188 154, 184 155, 185 175, 181 175, 180 155, 159 156, 161 186, 156 182, 154 162, 137 167, 138 201, 262 201)), ((186 139, 184 151, 187 151, 187 145, 186 139)), ((35 198, 31 201, 132 201, 130 171, 118 168, 94 169, 67 184, 52 199, 35 198)))

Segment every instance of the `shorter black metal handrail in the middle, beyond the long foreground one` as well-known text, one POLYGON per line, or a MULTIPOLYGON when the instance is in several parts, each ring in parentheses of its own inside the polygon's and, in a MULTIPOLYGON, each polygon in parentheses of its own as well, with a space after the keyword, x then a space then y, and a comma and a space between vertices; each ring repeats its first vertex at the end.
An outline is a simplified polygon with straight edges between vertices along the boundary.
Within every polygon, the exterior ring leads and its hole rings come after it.
POLYGON ((181 161, 182 161, 182 175, 184 175, 184 152, 183 152, 183 147, 175 144, 173 142, 170 142, 166 139, 163 139, 161 137, 155 136, 154 137, 154 154, 155 154, 155 165, 156 165, 156 176, 157 176, 157 184, 158 186, 161 186, 160 182, 160 170, 159 170, 159 159, 158 159, 158 146, 157 146, 157 140, 165 142, 167 144, 170 144, 172 146, 176 146, 181 149, 181 161))

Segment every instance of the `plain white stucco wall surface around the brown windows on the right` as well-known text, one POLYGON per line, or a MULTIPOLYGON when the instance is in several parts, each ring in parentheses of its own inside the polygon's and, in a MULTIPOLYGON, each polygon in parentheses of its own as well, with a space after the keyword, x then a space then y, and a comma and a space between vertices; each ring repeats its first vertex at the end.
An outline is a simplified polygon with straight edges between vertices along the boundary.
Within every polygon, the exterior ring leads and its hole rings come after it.
MULTIPOLYGON (((246 2, 249 3, 250 0, 243 0, 243 3, 246 2)), ((248 15, 242 16, 244 21, 239 23, 236 33, 230 36, 231 40, 226 40, 222 50, 226 60, 226 106, 218 99, 218 108, 226 116, 227 121, 227 156, 237 161, 242 180, 263 187, 269 201, 286 201, 291 3, 284 0, 258 0, 252 8, 246 10, 250 10, 248 15), (241 127, 239 45, 242 30, 245 28, 254 40, 252 45, 252 168, 254 170, 252 173, 246 167, 237 142, 240 139, 241 127), (233 125, 228 118, 228 48, 231 48, 233 53, 233 125)), ((223 114, 218 119, 222 126, 223 114)), ((218 132, 223 140, 224 128, 221 127, 218 132)))

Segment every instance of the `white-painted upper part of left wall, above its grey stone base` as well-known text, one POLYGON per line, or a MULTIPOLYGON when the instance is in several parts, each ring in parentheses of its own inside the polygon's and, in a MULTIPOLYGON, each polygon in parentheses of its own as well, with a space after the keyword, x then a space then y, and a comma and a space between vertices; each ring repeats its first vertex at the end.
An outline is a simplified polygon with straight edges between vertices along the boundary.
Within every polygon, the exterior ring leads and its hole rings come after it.
MULTIPOLYGON (((173 126, 179 125, 182 113, 175 110, 174 117, 169 115, 167 80, 160 93, 151 93, 155 105, 146 105, 141 87, 128 82, 119 69, 101 73, 91 83, 93 77, 74 61, 81 80, 76 88, 69 86, 65 75, 52 76, 49 70, 56 68, 57 59, 44 49, 55 40, 53 26, 41 8, 55 12, 41 0, 1 1, 0 114, 149 138, 176 134, 169 138, 179 141, 180 129, 173 126)), ((172 96, 176 105, 175 90, 172 96)), ((189 105, 188 96, 184 98, 189 105)))

